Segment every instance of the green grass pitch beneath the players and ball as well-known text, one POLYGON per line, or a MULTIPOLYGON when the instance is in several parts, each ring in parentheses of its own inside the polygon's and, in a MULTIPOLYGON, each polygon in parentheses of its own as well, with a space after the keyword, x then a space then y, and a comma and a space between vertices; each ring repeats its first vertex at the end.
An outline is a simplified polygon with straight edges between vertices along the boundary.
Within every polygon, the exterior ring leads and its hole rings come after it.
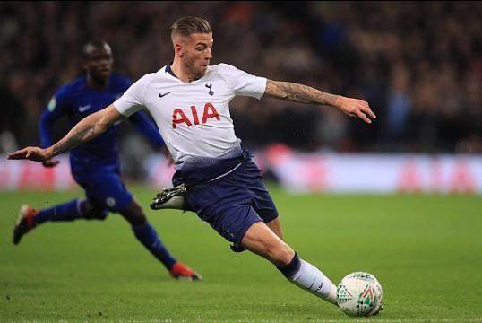
MULTIPOLYGON (((290 196, 273 188, 285 240, 337 284, 377 276, 383 314, 352 319, 303 292, 262 258, 234 254, 194 214, 149 212, 177 258, 203 275, 179 282, 118 215, 47 223, 11 242, 18 206, 80 191, 0 193, 0 321, 481 322, 480 196, 290 196)), ((148 205, 151 189, 133 188, 148 205)))

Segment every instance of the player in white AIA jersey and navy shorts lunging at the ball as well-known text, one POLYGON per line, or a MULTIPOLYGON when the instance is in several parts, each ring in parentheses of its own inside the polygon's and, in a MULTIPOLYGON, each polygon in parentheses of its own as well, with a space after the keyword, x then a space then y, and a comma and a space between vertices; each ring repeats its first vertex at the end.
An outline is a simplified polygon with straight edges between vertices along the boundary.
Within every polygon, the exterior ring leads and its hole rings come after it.
POLYGON ((268 259, 289 281, 336 304, 336 286, 315 266, 298 257, 282 240, 278 212, 264 188, 252 154, 241 147, 229 117, 237 95, 271 97, 329 105, 371 123, 368 103, 318 91, 306 85, 276 82, 238 70, 210 66, 209 22, 184 17, 171 26, 174 60, 146 74, 106 109, 82 119, 56 144, 26 147, 10 159, 45 161, 103 133, 118 120, 148 109, 176 162, 174 186, 185 185, 185 198, 196 214, 234 244, 268 259))

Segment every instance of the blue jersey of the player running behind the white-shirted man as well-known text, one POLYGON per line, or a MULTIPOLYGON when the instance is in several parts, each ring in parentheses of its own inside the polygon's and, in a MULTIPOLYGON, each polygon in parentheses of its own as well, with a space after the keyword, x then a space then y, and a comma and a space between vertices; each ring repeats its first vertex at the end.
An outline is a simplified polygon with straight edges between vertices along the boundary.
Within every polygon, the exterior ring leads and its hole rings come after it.
MULTIPOLYGON (((120 98, 131 84, 132 82, 125 76, 111 74, 108 79, 108 87, 104 90, 91 88, 85 76, 59 88, 40 118, 41 146, 47 147, 53 144, 52 124, 56 118, 66 116, 73 127, 82 118, 106 108, 120 98)), ((136 116, 135 118, 138 117, 136 116)), ((147 119, 145 116, 144 118, 147 119)), ((142 129, 150 126, 145 120, 141 121, 143 123, 142 129)), ((73 173, 82 173, 105 166, 118 167, 117 142, 119 127, 119 123, 116 123, 108 127, 102 135, 72 149, 70 161, 73 173)), ((159 132, 152 122, 151 128, 154 135, 156 135, 155 140, 162 144, 159 132)))

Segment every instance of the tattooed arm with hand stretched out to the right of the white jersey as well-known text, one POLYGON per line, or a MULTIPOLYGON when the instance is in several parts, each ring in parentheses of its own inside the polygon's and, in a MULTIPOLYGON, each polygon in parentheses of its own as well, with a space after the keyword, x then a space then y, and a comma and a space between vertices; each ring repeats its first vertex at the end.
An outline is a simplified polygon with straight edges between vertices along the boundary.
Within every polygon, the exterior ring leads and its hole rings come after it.
POLYGON ((345 98, 340 95, 321 92, 307 85, 268 80, 264 94, 272 98, 300 103, 316 103, 338 108, 351 117, 358 117, 366 123, 376 118, 374 112, 364 100, 345 98))

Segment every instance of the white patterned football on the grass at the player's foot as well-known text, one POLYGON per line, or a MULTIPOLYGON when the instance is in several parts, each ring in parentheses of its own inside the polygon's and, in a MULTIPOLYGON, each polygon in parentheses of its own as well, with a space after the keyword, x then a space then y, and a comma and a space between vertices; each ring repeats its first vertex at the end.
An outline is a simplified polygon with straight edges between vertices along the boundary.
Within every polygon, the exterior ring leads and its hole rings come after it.
POLYGON ((382 285, 374 275, 355 272, 338 284, 336 301, 349 316, 372 316, 382 309, 382 285))

